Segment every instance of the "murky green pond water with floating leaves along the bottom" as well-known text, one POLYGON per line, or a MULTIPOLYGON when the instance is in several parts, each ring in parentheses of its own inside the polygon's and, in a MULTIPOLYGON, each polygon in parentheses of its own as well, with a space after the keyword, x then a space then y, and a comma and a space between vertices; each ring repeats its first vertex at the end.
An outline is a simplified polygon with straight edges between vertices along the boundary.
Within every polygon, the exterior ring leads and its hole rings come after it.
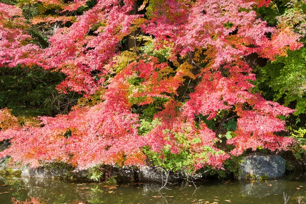
MULTIPOLYGON (((298 203, 306 196, 306 174, 283 179, 240 182, 214 180, 167 186, 160 183, 82 183, 0 176, 0 203, 38 199, 42 203, 298 203)), ((22 203, 22 202, 21 202, 22 203)), ((34 203, 34 202, 33 202, 34 203)), ((301 203, 306 203, 306 197, 301 203)))

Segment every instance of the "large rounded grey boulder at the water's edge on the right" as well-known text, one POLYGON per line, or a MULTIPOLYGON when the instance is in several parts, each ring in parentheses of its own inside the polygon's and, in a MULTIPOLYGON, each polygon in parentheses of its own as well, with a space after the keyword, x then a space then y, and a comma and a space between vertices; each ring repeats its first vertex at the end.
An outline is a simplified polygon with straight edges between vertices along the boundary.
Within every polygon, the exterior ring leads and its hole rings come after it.
POLYGON ((240 179, 275 179, 285 173, 286 160, 281 156, 253 155, 240 164, 240 179))

